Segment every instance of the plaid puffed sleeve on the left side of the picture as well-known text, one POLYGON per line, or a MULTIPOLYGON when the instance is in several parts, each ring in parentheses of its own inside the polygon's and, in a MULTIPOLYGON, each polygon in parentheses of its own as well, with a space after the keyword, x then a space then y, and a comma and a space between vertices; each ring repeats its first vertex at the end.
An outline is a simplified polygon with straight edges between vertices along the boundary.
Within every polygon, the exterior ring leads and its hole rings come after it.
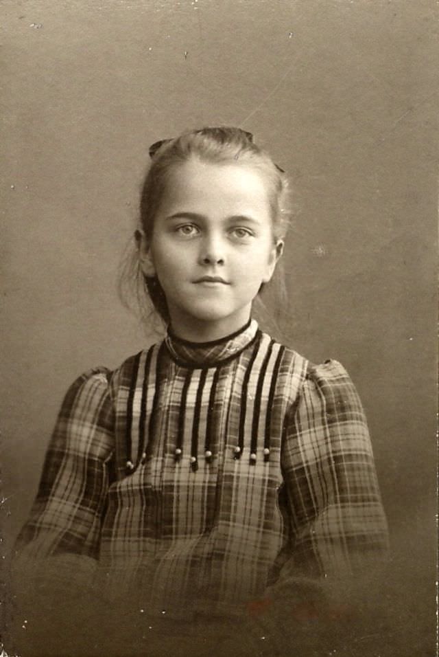
POLYGON ((84 591, 99 553, 114 452, 109 371, 95 368, 69 388, 47 449, 29 520, 12 564, 18 595, 84 591))

